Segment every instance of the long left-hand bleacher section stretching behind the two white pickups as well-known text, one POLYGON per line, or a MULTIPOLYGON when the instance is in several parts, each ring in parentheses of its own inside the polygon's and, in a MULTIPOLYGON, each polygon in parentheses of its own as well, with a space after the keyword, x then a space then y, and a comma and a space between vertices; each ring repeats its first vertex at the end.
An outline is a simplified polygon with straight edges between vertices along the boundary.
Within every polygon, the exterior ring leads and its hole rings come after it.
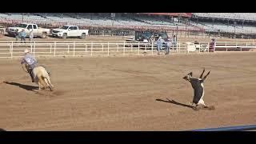
POLYGON ((63 25, 63 24, 72 24, 78 26, 115 26, 115 27, 129 27, 129 26, 153 26, 153 27, 170 27, 176 28, 179 26, 180 29, 187 28, 196 28, 193 26, 186 26, 182 23, 174 23, 168 22, 165 19, 158 19, 157 21, 155 18, 146 18, 146 17, 134 17, 133 19, 125 18, 125 17, 118 17, 110 18, 110 15, 103 14, 103 15, 90 15, 90 14, 55 14, 55 13, 47 13, 47 14, 40 14, 40 13, 33 13, 33 14, 24 14, 22 18, 21 13, 10 13, 10 14, 0 14, 0 19, 9 20, 9 22, 34 22, 38 24, 47 24, 50 25, 52 23, 63 25))

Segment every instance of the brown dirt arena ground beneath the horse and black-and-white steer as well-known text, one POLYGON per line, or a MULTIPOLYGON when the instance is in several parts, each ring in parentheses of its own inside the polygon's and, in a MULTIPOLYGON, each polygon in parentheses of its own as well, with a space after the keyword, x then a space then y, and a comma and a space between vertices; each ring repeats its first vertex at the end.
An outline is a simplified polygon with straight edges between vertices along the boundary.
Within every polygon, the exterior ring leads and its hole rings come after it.
POLYGON ((18 59, 0 59, 4 130, 194 130, 256 122, 256 52, 40 58, 54 91, 39 91, 18 59), (182 77, 202 67, 206 105, 193 110, 182 77))

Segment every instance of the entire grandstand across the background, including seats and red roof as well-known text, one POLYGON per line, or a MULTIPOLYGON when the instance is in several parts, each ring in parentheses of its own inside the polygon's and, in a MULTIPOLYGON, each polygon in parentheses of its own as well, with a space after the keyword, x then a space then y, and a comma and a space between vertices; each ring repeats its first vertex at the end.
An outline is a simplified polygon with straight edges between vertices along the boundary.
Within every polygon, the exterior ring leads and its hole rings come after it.
MULTIPOLYGON (((256 35, 256 13, 0 13, 0 23, 13 26, 33 22, 38 26, 66 24, 93 30, 198 31, 217 36, 256 35)), ((187 33, 189 34, 189 33, 187 33)))

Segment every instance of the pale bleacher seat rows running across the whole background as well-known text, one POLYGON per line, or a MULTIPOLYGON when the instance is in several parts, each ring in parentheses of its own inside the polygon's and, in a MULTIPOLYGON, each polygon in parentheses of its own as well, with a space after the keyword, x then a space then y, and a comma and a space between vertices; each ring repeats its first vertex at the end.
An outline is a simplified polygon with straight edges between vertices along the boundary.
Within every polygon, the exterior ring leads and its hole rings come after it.
MULTIPOLYGON (((256 21, 256 13, 194 13, 201 18, 230 18, 237 20, 256 21)), ((110 14, 86 14, 86 13, 0 13, 0 22, 2 23, 20 23, 33 22, 38 25, 54 25, 62 26, 64 24, 77 26, 93 26, 93 27, 158 27, 175 30, 206 30, 209 32, 229 32, 229 33, 255 33, 256 27, 249 25, 226 24, 225 22, 194 22, 188 24, 179 22, 177 19, 170 19, 161 16, 149 16, 135 14, 132 18, 126 15, 112 19, 110 14)))

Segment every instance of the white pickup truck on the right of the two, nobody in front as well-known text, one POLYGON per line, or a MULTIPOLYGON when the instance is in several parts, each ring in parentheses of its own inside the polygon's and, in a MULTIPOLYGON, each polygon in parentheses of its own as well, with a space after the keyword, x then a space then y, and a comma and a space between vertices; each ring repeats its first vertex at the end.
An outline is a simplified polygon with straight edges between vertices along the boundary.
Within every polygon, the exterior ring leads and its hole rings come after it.
POLYGON ((58 38, 70 38, 70 37, 79 37, 86 38, 89 30, 79 30, 78 26, 62 26, 58 29, 52 30, 53 37, 58 38))

